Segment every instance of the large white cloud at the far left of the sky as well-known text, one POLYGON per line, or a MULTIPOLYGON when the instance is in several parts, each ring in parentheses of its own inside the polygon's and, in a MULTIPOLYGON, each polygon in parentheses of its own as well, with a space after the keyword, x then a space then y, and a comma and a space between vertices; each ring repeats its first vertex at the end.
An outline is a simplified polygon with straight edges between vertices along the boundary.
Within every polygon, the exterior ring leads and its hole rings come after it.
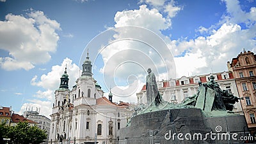
POLYGON ((0 66, 12 71, 32 69, 51 59, 56 52, 60 24, 44 15, 43 11, 33 11, 22 15, 8 14, 0 21, 0 48, 9 52, 9 57, 1 57, 0 66))

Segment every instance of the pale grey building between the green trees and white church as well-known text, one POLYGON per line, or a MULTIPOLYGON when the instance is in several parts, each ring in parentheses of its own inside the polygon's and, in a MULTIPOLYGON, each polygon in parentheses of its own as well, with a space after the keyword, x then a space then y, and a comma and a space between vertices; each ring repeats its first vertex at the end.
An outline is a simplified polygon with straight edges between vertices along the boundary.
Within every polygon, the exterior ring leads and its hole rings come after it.
POLYGON ((31 110, 26 110, 24 112, 24 117, 29 120, 33 120, 36 122, 37 126, 40 129, 43 129, 47 133, 47 139, 45 140, 45 143, 48 143, 49 140, 49 133, 50 133, 50 125, 51 125, 51 120, 44 115, 39 115, 40 109, 36 108, 36 111, 33 111, 33 108, 31 110))

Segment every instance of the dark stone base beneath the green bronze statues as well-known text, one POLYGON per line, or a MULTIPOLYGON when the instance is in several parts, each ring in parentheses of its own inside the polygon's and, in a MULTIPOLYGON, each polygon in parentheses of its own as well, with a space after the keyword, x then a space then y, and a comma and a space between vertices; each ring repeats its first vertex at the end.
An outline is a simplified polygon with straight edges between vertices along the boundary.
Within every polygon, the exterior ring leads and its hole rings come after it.
POLYGON ((206 117, 200 108, 179 108, 132 117, 118 143, 243 143, 248 133, 243 115, 206 117))

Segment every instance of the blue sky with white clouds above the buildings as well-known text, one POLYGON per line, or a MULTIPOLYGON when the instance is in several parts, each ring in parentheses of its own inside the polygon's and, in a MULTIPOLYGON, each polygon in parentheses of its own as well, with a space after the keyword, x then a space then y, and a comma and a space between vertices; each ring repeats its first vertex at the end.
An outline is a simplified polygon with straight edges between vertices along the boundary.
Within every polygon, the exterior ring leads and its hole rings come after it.
POLYGON ((71 89, 88 49, 105 96, 136 102, 147 68, 203 75, 256 52, 255 22, 255 0, 0 0, 0 105, 49 117, 66 64, 71 89))

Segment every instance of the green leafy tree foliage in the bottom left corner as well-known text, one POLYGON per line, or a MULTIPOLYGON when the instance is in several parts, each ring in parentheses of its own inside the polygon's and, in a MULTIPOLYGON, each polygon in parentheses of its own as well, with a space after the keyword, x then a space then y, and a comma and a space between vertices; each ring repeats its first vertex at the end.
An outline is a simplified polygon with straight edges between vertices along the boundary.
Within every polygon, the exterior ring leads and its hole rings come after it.
MULTIPOLYGON (((3 138, 10 138, 8 143, 42 143, 47 138, 45 130, 37 126, 29 126, 28 122, 19 122, 17 126, 6 127, 3 126, 3 138)), ((0 129, 2 127, 0 126, 0 129)), ((2 130, 0 130, 1 133, 2 130)), ((2 140, 3 140, 2 138, 2 140)))

